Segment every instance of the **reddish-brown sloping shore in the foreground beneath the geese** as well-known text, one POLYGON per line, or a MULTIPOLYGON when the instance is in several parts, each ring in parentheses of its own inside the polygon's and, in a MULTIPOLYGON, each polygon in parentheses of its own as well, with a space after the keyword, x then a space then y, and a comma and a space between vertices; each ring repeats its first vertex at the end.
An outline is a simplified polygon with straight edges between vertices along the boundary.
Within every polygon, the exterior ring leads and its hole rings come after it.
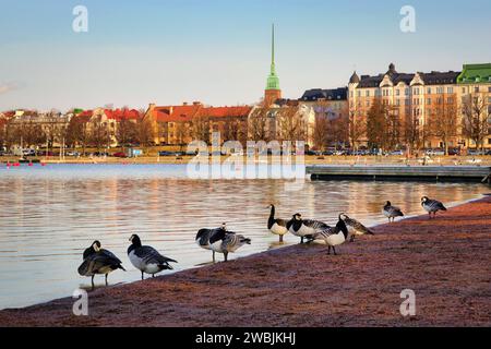
MULTIPOLYGON (((292 245, 0 311, 0 326, 490 326, 491 196, 374 228, 345 243, 292 245), (416 316, 399 312, 416 293, 416 316)), ((197 249, 197 248, 196 248, 197 249)))

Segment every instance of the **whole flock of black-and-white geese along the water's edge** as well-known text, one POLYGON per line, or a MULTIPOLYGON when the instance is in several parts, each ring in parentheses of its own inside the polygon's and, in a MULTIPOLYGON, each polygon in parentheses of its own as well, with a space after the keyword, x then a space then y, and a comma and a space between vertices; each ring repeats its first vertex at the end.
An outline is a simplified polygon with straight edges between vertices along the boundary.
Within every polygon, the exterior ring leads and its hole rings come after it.
MULTIPOLYGON (((421 206, 428 212, 430 219, 434 219, 439 210, 446 210, 441 202, 431 200, 428 196, 421 197, 421 206)), ((271 213, 267 219, 267 229, 279 237, 279 242, 283 242, 284 236, 290 232, 300 238, 300 243, 304 243, 306 240, 307 243, 324 241, 328 246, 327 254, 331 254, 332 249, 336 255, 336 246, 348 240, 354 242, 355 237, 374 234, 372 230, 344 213, 339 214, 336 226, 330 227, 320 220, 303 219, 301 214, 295 214, 289 220, 275 218, 275 206, 270 205, 268 208, 271 208, 271 213)), ((388 218, 388 222, 394 222, 396 217, 404 217, 400 208, 393 206, 390 201, 384 205, 382 213, 388 218)), ((229 231, 224 222, 215 229, 200 229, 195 242, 200 248, 213 252, 213 262, 215 262, 216 252, 224 254, 224 261, 227 262, 229 253, 236 252, 244 244, 251 244, 251 239, 229 231)), ((161 270, 172 269, 170 263, 178 263, 161 255, 152 246, 142 245, 137 234, 131 236, 128 257, 131 264, 142 273, 142 280, 144 279, 144 274, 155 277, 155 274, 161 270)), ((117 269, 125 270, 121 264, 122 262, 112 252, 103 249, 100 242, 96 240, 84 251, 83 263, 79 267, 79 274, 92 277, 93 288, 94 276, 105 275, 107 286, 109 273, 117 269)))

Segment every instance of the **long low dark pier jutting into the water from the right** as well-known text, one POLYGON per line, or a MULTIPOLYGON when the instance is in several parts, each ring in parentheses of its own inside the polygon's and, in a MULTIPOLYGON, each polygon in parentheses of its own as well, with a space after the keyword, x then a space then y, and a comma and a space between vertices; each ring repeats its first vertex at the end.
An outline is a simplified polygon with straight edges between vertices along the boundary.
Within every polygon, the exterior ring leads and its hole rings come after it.
POLYGON ((307 166, 312 180, 402 180, 436 182, 481 182, 491 184, 491 167, 486 166, 307 166))

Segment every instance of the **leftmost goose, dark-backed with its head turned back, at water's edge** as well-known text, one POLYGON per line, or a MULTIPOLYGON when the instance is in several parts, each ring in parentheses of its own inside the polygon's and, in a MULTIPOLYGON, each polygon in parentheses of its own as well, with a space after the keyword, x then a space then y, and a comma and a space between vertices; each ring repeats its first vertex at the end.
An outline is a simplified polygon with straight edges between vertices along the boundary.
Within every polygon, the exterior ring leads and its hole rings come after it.
POLYGON ((101 249, 98 240, 94 241, 92 245, 84 251, 84 262, 79 266, 79 274, 81 276, 92 276, 92 288, 94 289, 94 276, 103 274, 106 276, 116 269, 125 269, 121 265, 121 261, 110 251, 101 249))

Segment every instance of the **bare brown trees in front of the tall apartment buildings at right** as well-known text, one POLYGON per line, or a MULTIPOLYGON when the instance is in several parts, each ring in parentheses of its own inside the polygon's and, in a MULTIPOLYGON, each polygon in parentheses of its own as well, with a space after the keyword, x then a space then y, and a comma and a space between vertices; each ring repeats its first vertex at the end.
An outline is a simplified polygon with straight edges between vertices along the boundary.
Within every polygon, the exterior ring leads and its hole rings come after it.
POLYGON ((392 151, 404 146, 411 152, 423 148, 430 137, 436 137, 448 154, 451 141, 465 137, 483 148, 491 128, 486 98, 486 95, 469 95, 459 107, 455 94, 442 95, 427 106, 424 123, 420 123, 414 110, 400 116, 398 107, 374 99, 366 118, 349 115, 349 139, 355 147, 366 137, 371 148, 392 151))

